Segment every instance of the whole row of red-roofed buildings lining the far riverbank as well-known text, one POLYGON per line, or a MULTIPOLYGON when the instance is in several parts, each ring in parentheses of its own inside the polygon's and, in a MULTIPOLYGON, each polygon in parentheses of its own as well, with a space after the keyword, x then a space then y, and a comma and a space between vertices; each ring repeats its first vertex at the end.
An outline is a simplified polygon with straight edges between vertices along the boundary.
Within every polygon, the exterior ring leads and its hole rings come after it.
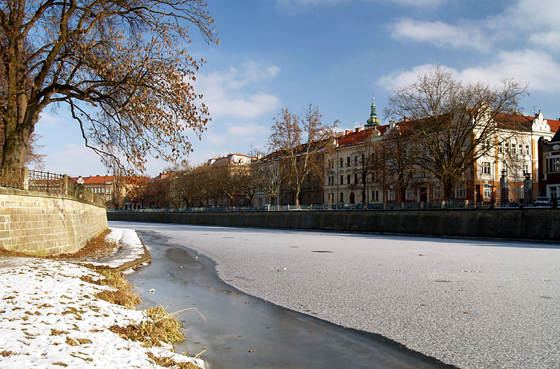
MULTIPOLYGON (((235 164, 238 171, 239 168, 244 168, 241 174, 244 174, 245 182, 237 190, 232 190, 237 191, 235 193, 224 190, 221 194, 219 189, 214 188, 211 192, 199 191, 200 196, 197 200, 194 199, 195 195, 190 195, 188 200, 188 196, 181 194, 179 188, 184 186, 179 179, 184 182, 194 178, 189 177, 188 171, 160 173, 157 178, 148 180, 148 183, 166 183, 169 188, 165 195, 169 197, 167 203, 169 207, 174 208, 295 203, 427 203, 442 201, 444 197, 451 197, 457 201, 509 203, 521 200, 531 202, 537 196, 556 198, 560 195, 560 120, 545 119, 540 112, 533 116, 497 115, 493 118, 496 120, 493 124, 496 124, 498 129, 491 139, 482 143, 487 145, 482 147, 484 154, 472 161, 472 165, 461 173, 451 196, 444 196, 444 188, 434 175, 414 170, 407 170, 406 173, 404 169, 399 169, 397 173, 388 170, 391 166, 389 161, 395 158, 387 157, 387 152, 383 156, 380 147, 383 147, 391 135, 394 136, 406 128, 414 129, 414 122, 404 118, 401 122, 391 121, 382 125, 376 109, 373 101, 370 117, 363 126, 339 133, 332 143, 323 146, 317 156, 321 163, 320 173, 309 175, 299 193, 286 181, 281 181, 279 152, 272 152, 265 157, 228 154, 225 157, 209 159, 204 167, 235 164), (512 130, 515 131, 514 134, 512 130), (247 174, 251 172, 254 173, 247 174), (265 190, 265 187, 272 189, 265 190)), ((473 137, 476 134, 472 132, 473 137)), ((394 156, 395 153, 391 152, 391 155, 394 156)), ((423 153, 415 152, 414 155, 422 156, 423 153)), ((202 168, 190 169, 191 174, 201 171, 202 168)), ((226 176, 222 172, 220 175, 221 177, 214 178, 214 181, 227 181, 234 174, 226 176)), ((130 196, 134 188, 131 181, 125 181, 123 184, 123 181, 119 181, 115 176, 99 175, 73 180, 83 182, 85 187, 104 196, 108 208, 147 206, 146 202, 138 203, 130 196)), ((209 177, 197 181, 190 183, 190 187, 197 187, 195 191, 200 187, 210 186, 209 177)))

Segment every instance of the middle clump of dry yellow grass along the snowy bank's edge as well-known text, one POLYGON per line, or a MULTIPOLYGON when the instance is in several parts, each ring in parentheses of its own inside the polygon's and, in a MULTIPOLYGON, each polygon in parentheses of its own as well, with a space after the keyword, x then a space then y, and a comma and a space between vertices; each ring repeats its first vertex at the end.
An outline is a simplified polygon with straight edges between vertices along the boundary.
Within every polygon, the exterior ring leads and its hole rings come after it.
POLYGON ((122 338, 143 342, 146 347, 161 346, 161 342, 175 343, 185 340, 181 323, 160 305, 145 310, 147 319, 129 326, 111 326, 109 329, 122 338))

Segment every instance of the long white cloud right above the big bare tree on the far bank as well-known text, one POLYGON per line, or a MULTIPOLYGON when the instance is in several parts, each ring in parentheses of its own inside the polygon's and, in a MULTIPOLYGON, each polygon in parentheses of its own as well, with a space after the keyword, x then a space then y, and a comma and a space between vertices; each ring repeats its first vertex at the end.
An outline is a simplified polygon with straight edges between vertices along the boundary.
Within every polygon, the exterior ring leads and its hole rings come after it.
MULTIPOLYGON (((387 89, 410 85, 419 75, 435 69, 433 64, 415 66, 409 71, 398 71, 379 79, 379 85, 387 89)), ((489 64, 451 71, 454 77, 464 82, 486 82, 491 86, 499 85, 500 80, 513 77, 521 85, 528 85, 529 91, 560 91, 560 64, 545 52, 535 50, 498 52, 489 64)))

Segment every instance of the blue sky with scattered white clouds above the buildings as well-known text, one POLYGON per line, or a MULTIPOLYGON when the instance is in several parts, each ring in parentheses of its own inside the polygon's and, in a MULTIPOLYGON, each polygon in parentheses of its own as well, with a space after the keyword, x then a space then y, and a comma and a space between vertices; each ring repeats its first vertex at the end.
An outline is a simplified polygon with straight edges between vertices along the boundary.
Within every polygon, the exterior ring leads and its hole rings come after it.
MULTIPOLYGON (((281 108, 318 106, 339 129, 365 124, 375 95, 381 122, 391 88, 442 66, 456 78, 528 84, 523 112, 560 117, 560 2, 557 0, 209 0, 220 34, 207 45, 191 27, 187 50, 207 64, 195 89, 212 121, 192 136, 197 164, 228 153, 266 149, 281 108)), ((85 149, 64 106, 46 108, 36 126, 45 169, 107 173, 85 149), (64 133, 62 133, 64 132, 64 133)), ((148 161, 148 175, 165 162, 148 161)))

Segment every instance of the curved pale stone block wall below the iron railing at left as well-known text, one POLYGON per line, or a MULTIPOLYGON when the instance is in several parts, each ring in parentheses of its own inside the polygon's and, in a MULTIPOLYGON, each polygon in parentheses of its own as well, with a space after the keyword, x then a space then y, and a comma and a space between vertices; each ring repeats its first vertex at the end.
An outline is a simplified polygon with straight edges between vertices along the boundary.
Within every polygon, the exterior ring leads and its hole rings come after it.
POLYGON ((30 255, 76 252, 107 229, 104 206, 74 196, 0 188, 0 247, 30 255))

